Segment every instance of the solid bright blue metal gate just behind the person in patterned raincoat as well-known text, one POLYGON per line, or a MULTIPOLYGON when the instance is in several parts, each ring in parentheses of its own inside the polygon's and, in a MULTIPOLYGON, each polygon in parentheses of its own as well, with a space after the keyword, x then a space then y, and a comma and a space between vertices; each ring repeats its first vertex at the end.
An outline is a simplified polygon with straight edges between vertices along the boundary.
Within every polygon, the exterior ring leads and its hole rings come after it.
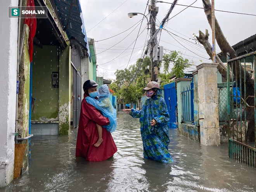
POLYGON ((177 128, 177 92, 175 82, 164 85, 164 100, 170 114, 168 126, 169 128, 177 128))

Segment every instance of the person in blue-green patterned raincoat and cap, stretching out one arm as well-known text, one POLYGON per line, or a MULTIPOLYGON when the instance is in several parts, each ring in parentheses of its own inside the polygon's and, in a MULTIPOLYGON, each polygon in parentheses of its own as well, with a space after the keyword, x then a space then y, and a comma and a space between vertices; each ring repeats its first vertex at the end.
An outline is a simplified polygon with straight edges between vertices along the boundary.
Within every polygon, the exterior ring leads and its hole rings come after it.
POLYGON ((133 118, 140 118, 140 132, 143 142, 144 158, 171 163, 173 159, 168 151, 170 143, 168 121, 170 119, 166 103, 162 97, 162 90, 157 82, 147 84, 146 96, 142 110, 124 109, 133 118))

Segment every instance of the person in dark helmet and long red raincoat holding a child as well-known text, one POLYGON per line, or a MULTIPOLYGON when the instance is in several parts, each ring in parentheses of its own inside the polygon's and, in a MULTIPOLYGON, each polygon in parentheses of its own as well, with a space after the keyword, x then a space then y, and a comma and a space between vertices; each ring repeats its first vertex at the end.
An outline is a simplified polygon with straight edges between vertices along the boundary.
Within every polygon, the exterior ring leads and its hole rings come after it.
MULTIPOLYGON (((83 84, 84 98, 95 98, 97 86, 93 80, 85 81, 83 84)), ((76 141, 76 157, 84 157, 88 161, 104 161, 117 152, 112 135, 105 128, 102 128, 102 144, 99 147, 94 146, 99 138, 96 123, 101 126, 109 125, 109 119, 102 116, 95 107, 83 99, 76 141)))

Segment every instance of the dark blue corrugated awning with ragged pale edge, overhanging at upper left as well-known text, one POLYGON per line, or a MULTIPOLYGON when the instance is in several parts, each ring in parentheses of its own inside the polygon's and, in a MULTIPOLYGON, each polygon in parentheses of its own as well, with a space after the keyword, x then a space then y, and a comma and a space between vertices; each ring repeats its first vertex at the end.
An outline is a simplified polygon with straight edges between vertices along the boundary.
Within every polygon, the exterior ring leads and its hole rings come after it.
POLYGON ((69 40, 74 40, 80 44, 87 51, 91 61, 80 0, 54 0, 54 3, 61 16, 63 29, 67 33, 67 37, 69 40))

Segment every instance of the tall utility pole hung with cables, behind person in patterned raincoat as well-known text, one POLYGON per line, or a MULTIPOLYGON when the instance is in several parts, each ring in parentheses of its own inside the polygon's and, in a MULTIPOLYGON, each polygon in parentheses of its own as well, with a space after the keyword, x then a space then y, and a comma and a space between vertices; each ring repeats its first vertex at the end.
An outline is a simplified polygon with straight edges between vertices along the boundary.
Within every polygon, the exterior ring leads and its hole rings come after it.
MULTIPOLYGON (((151 25, 151 29, 150 29, 150 37, 152 38, 155 34, 155 31, 156 31, 156 15, 157 15, 157 12, 156 12, 156 4, 155 4, 155 0, 151 0, 151 9, 150 9, 150 18, 151 18, 151 21, 150 21, 150 25, 151 25)), ((154 74, 154 57, 153 57, 153 49, 155 47, 156 43, 155 41, 152 39, 152 42, 151 42, 151 52, 150 52, 150 60, 151 60, 151 80, 152 81, 156 81, 156 76, 154 74)))

